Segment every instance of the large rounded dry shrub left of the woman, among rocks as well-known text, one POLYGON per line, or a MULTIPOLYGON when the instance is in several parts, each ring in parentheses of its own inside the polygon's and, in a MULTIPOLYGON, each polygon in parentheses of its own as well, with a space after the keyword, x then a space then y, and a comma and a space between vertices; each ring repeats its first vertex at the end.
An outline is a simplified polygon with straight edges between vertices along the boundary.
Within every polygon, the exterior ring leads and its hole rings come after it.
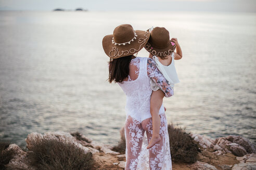
POLYGON ((37 169, 94 169, 92 153, 84 151, 72 143, 56 139, 39 139, 28 152, 32 166, 37 169))

